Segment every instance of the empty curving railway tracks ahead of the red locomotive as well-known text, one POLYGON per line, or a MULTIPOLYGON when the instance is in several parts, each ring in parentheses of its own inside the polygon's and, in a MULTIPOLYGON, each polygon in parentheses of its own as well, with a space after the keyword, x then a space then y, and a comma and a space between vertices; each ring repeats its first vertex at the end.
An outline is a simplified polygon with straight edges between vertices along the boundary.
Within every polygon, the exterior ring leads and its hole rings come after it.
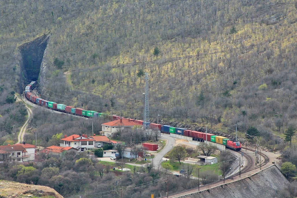
MULTIPOLYGON (((244 149, 245 148, 242 148, 241 150, 244 150, 244 149)), ((268 156, 265 155, 265 154, 263 154, 263 153, 260 153, 260 156, 263 157, 263 161, 260 160, 261 163, 259 163, 258 165, 253 166, 254 163, 255 163, 255 159, 254 159, 254 157, 255 157, 255 153, 254 153, 255 150, 250 149, 250 148, 246 148, 246 150, 252 151, 253 152, 252 155, 250 155, 251 153, 247 153, 247 152, 244 152, 244 151, 238 151, 238 153, 241 153, 242 152, 243 153, 243 156, 245 156, 246 159, 247 159, 247 165, 244 167, 244 170, 241 171, 240 173, 238 172, 238 173, 232 174, 232 175, 230 175, 228 177, 225 177, 225 180, 229 180, 231 178, 233 179, 233 177, 235 177, 235 176, 237 176, 239 174, 244 174, 244 173, 247 173, 247 172, 249 172, 251 170, 258 169, 258 168, 260 168, 260 170, 261 170, 261 167, 263 167, 264 165, 266 165, 269 162, 268 156)), ((200 186, 200 187, 195 187, 193 189, 189 189, 189 190, 186 190, 186 191, 168 194, 168 197, 171 197, 171 196, 174 196, 174 195, 178 195, 178 194, 181 194, 181 193, 182 194, 180 196, 183 196, 183 195, 185 195, 184 194, 185 192, 187 192, 187 194, 195 193, 195 192, 198 192, 197 191, 198 189, 201 189, 201 191, 202 190, 203 191, 204 190, 208 190, 208 189, 211 188, 211 185, 217 184, 217 183, 220 183, 220 182, 222 182, 222 179, 221 180, 218 180, 218 181, 215 181, 213 183, 209 183, 209 184, 206 184, 206 185, 203 185, 203 186, 200 186)), ((158 198, 162 198, 162 197, 167 197, 167 195, 161 196, 161 197, 158 197, 158 198)))

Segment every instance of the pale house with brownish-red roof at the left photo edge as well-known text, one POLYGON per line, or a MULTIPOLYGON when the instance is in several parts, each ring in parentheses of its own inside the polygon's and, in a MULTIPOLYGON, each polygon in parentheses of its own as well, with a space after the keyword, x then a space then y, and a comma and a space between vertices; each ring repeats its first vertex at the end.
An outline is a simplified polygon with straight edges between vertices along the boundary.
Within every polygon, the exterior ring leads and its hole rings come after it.
POLYGON ((0 146, 0 161, 29 161, 30 155, 22 145, 0 146))

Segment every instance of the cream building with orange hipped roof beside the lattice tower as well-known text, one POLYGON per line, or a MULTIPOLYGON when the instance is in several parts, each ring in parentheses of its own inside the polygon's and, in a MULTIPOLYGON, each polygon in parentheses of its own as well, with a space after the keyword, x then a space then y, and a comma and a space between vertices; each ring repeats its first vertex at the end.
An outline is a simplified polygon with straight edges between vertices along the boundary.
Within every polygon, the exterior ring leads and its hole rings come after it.
POLYGON ((139 126, 141 128, 143 127, 142 124, 133 122, 130 119, 122 118, 101 124, 102 134, 104 134, 106 137, 110 137, 113 133, 117 132, 118 129, 132 129, 134 126, 139 126))

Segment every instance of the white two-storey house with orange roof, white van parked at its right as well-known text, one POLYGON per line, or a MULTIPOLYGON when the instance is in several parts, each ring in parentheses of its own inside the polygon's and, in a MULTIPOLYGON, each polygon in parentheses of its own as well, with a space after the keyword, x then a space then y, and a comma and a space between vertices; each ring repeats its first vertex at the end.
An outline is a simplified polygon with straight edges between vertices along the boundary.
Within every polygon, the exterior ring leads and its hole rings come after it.
POLYGON ((95 148, 95 140, 88 138, 86 134, 81 136, 73 134, 68 137, 65 135, 61 140, 63 141, 63 143, 60 144, 62 147, 73 147, 80 151, 92 150, 95 148))

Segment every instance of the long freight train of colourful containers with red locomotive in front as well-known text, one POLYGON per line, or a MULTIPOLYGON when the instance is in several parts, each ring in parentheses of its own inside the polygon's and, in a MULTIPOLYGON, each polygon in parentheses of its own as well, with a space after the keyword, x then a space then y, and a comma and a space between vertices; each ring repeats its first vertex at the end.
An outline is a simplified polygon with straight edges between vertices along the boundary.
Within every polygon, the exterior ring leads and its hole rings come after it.
MULTIPOLYGON (((87 118, 93 118, 93 117, 100 117, 100 116, 105 116, 107 114, 105 113, 98 113, 96 111, 89 111, 81 108, 75 108, 71 106, 66 106, 65 104, 57 104, 55 102, 50 102, 41 98, 38 98, 32 93, 32 90, 36 87, 37 82, 32 81, 28 86, 25 88, 25 96, 28 100, 31 102, 38 104, 42 107, 46 107, 52 110, 64 112, 64 113, 69 113, 73 115, 79 115, 87 118)), ((117 115, 113 115, 113 121, 114 120, 120 120, 121 117, 117 115)), ((233 149, 235 151, 240 151, 241 150, 241 144, 240 142, 234 142, 229 140, 226 137, 223 136, 217 136, 214 134, 210 133, 203 133, 203 132, 198 132, 198 131, 192 131, 184 128, 177 128, 169 125, 161 125, 161 124, 156 124, 156 123, 145 123, 142 120, 134 120, 134 119, 128 119, 128 118, 122 118, 122 119, 127 119, 130 122, 136 122, 139 124, 143 124, 146 126, 149 126, 151 129, 155 129, 158 131, 161 131, 163 133, 174 133, 178 135, 183 135, 187 137, 192 137, 192 140, 194 141, 210 141, 210 142, 215 142, 221 145, 225 145, 226 148, 233 149)))

